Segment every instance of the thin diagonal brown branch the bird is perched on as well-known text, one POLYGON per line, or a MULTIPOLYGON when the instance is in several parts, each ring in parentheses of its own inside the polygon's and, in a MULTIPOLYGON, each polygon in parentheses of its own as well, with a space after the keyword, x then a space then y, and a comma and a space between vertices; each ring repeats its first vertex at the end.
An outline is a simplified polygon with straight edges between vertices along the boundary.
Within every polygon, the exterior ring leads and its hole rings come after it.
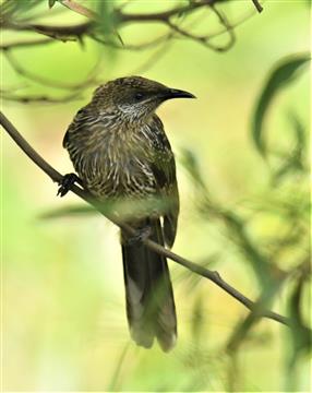
MULTIPOLYGON (((41 169, 44 170, 55 182, 60 183, 62 180, 62 175, 58 172, 50 164, 48 164, 31 145, 20 134, 20 132, 15 129, 15 127, 7 119, 7 117, 0 112, 0 124, 4 128, 4 130, 10 134, 10 136, 15 141, 15 143, 22 148, 22 151, 41 169)), ((71 188, 71 191, 75 193, 77 196, 82 198, 84 201, 93 205, 100 214, 106 216, 108 219, 110 219, 113 224, 122 228, 123 230, 128 231, 130 235, 135 235, 135 230, 124 224, 120 218, 116 216, 111 216, 111 214, 108 214, 105 212, 103 206, 99 204, 98 201, 96 201, 86 190, 73 186, 71 188)), ((218 272, 211 271, 208 269, 205 269, 201 265, 197 265, 196 263, 193 263, 191 261, 188 261, 183 257, 180 257, 176 254, 175 252, 166 249, 165 247, 156 243, 152 240, 145 240, 144 245, 148 247, 151 250, 165 255, 166 258, 169 258, 170 260, 179 263, 180 265, 189 269, 195 274, 199 274, 205 278, 208 278, 213 283, 215 283, 217 286, 223 288, 228 295, 237 299, 239 302, 244 305, 249 310, 253 311, 257 303, 250 300, 248 297, 242 295, 239 290, 233 288, 231 285, 226 283, 218 272)), ((285 325, 290 325, 290 321, 287 317, 280 315, 276 312, 269 311, 269 310, 262 310, 261 317, 265 317, 272 320, 275 320, 279 323, 283 323, 285 325)))

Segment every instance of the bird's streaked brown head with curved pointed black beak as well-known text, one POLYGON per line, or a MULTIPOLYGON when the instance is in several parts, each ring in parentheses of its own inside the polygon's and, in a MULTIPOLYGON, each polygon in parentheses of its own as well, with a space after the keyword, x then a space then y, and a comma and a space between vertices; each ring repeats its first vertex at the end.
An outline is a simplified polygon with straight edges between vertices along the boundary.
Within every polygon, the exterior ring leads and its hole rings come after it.
POLYGON ((119 78, 99 86, 93 97, 99 109, 112 109, 129 120, 142 120, 167 99, 195 98, 193 94, 170 88, 142 76, 119 78))

